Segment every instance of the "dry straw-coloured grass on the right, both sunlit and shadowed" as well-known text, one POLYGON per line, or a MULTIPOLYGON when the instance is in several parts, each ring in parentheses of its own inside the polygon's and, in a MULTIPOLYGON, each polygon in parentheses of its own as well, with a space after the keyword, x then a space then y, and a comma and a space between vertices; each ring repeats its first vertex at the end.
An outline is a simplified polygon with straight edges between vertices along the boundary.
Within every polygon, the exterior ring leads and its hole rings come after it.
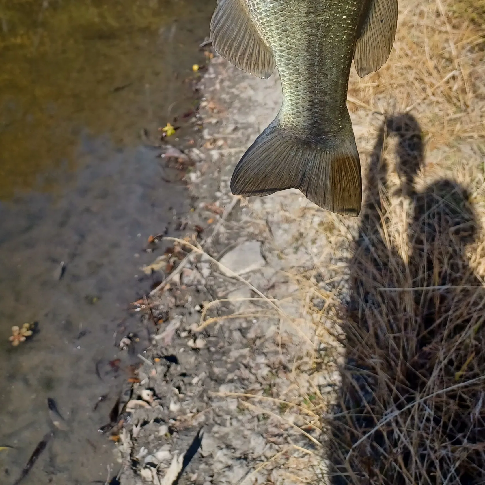
POLYGON ((302 308, 344 349, 323 419, 335 484, 485 483, 484 12, 401 0, 388 63, 351 77, 367 167, 349 288, 318 310, 327 268, 298 275, 302 308))

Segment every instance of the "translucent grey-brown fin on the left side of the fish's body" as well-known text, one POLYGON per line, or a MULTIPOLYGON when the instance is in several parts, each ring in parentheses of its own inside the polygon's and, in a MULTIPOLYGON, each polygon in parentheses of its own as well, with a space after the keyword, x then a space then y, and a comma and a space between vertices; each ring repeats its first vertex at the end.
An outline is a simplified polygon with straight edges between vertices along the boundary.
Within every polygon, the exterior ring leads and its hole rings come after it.
POLYGON ((261 39, 244 0, 218 0, 210 38, 214 49, 242 71, 267 79, 275 70, 273 52, 261 39))

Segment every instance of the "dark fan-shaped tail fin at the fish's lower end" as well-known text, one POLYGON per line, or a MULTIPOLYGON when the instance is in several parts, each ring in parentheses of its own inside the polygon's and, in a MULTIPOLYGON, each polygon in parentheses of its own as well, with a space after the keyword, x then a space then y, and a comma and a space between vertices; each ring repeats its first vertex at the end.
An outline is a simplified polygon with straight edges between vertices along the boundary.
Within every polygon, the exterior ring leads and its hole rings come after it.
POLYGON ((335 140, 301 139, 279 127, 276 119, 237 164, 231 192, 261 196, 294 188, 323 209, 357 216, 362 177, 354 134, 349 132, 335 140))

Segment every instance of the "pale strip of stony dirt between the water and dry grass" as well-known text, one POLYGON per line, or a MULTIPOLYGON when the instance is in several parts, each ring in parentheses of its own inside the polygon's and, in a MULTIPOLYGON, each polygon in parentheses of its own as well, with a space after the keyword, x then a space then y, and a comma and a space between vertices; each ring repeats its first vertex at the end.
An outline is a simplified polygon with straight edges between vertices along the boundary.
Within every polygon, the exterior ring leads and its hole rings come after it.
POLYGON ((155 320, 164 315, 167 323, 146 353, 132 398, 152 389, 158 399, 152 407, 134 404, 143 407, 121 434, 121 483, 172 483, 162 481, 166 469, 201 428, 200 451, 180 483, 311 482, 322 473, 311 401, 325 394, 331 376, 311 357, 321 344, 300 315, 300 290, 286 271, 296 260, 309 270, 316 251, 289 244, 294 234, 278 213, 289 200, 293 208, 308 202, 293 190, 248 204, 229 191, 245 147, 279 109, 279 80, 252 78, 216 58, 201 90, 205 143, 185 152, 198 160, 189 174, 198 201, 187 237, 194 252, 175 242, 190 256, 150 300, 155 320), (196 226, 204 228, 202 241, 191 237, 196 226), (139 423, 147 424, 136 431, 139 423))

